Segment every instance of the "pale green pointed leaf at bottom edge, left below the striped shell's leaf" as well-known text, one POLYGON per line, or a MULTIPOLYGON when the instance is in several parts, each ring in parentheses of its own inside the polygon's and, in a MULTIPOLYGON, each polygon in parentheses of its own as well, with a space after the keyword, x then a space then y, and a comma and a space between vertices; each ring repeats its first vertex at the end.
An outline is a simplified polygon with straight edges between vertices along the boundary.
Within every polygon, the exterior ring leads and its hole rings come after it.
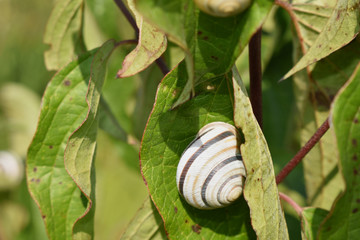
POLYGON ((167 239, 164 223, 150 198, 145 199, 120 239, 167 239))

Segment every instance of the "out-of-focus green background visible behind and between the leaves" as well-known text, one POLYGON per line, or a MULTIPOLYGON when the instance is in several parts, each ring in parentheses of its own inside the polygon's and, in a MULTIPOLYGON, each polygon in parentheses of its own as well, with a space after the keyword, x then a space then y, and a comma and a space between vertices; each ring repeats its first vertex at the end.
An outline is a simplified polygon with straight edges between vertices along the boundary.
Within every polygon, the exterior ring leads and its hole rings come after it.
MULTIPOLYGON (((43 34, 52 6, 52 1, 0 1, 0 151, 14 154, 23 166, 13 183, 0 180, 1 240, 47 239, 40 213, 27 191, 24 166, 26 151, 36 129, 41 96, 55 73, 46 70, 43 58, 48 49, 43 44, 43 34)), ((88 49, 98 47, 109 38, 134 38, 134 31, 112 0, 86 1, 84 20, 88 49)), ((119 239, 147 196, 139 170, 138 149, 162 74, 156 66, 151 66, 134 77, 115 79, 116 71, 131 48, 119 49, 111 57, 103 90, 104 99, 129 133, 129 139, 128 142, 117 140, 116 134, 106 131, 107 120, 103 120, 105 131, 99 132, 95 161, 95 239, 119 239)), ((278 172, 299 147, 293 134, 292 82, 278 83, 292 65, 290 20, 284 11, 273 11, 270 15, 263 30, 262 49, 264 134, 278 172)), ((177 47, 169 44, 165 57, 170 67, 182 56, 177 47)), ((239 58, 237 66, 243 80, 248 81, 247 51, 239 58)), ((0 174, 5 173, 0 163, 0 174)), ((300 204, 304 203, 305 195, 303 181, 298 180, 302 178, 299 167, 281 186, 282 191, 300 204)), ((296 214, 290 210, 286 216, 291 239, 300 239, 296 214)))

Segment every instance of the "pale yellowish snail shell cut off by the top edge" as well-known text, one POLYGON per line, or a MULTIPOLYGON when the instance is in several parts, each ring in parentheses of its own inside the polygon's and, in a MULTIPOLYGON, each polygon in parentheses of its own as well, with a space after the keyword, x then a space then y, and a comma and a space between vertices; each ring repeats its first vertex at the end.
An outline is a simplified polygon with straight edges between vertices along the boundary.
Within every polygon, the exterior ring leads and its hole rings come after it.
POLYGON ((194 0, 204 12, 215 17, 229 17, 247 9, 251 0, 194 0))

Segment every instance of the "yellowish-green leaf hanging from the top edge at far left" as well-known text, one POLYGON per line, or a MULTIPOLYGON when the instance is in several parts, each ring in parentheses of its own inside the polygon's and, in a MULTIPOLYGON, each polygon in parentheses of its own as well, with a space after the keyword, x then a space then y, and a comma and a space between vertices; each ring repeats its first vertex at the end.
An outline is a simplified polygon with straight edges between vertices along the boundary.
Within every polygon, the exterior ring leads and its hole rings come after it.
POLYGON ((44 43, 50 45, 44 55, 48 70, 58 70, 85 52, 83 11, 83 0, 56 1, 44 35, 44 43))

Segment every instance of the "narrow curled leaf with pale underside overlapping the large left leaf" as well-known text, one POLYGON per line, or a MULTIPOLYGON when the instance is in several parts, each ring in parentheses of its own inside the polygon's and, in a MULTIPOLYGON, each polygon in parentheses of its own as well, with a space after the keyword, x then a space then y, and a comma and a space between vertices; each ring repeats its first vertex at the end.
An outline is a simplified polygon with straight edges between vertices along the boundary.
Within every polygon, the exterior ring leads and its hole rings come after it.
POLYGON ((84 122, 69 138, 65 150, 65 168, 88 201, 86 211, 78 216, 74 224, 73 239, 92 239, 94 235, 95 208, 92 205, 95 201, 95 172, 92 160, 95 154, 98 130, 97 113, 107 60, 114 47, 115 41, 108 41, 99 48, 94 56, 86 95, 89 110, 84 122))

